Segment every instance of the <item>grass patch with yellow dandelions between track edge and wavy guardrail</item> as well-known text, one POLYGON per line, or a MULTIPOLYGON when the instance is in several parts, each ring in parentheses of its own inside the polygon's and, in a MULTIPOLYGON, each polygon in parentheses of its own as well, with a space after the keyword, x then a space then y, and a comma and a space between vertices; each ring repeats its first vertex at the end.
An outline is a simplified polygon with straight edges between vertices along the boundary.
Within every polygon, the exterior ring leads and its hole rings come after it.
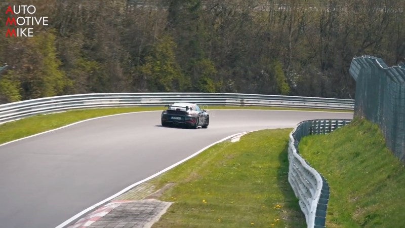
POLYGON ((216 144, 144 183, 165 189, 156 199, 174 202, 152 227, 306 227, 288 182, 291 131, 261 130, 216 144))

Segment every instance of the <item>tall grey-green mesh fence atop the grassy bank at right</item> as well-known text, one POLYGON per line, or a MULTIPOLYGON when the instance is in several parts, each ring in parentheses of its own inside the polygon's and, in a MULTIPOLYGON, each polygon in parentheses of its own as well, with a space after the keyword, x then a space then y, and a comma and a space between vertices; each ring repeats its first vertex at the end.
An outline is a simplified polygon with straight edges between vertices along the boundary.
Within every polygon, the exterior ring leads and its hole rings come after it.
POLYGON ((355 56, 349 72, 356 80, 354 115, 377 123, 387 147, 405 162, 405 64, 355 56))

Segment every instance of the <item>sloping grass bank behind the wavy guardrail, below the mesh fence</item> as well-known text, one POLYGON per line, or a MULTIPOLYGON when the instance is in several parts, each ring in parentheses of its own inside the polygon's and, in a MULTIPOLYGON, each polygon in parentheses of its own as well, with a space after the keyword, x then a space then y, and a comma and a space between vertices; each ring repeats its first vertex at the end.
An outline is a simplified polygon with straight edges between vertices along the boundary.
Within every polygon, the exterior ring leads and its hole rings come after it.
POLYGON ((405 167, 377 125, 355 119, 304 137, 299 149, 331 187, 327 227, 405 227, 405 167))

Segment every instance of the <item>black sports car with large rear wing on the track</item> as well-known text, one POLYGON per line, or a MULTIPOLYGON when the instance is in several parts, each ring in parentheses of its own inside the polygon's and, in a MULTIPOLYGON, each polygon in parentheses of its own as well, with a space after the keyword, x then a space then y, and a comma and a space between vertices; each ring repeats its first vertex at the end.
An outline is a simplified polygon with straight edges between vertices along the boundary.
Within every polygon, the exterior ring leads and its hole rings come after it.
POLYGON ((174 103, 161 113, 161 125, 185 125, 197 129, 198 126, 208 128, 210 117, 206 110, 201 110, 197 104, 174 103))

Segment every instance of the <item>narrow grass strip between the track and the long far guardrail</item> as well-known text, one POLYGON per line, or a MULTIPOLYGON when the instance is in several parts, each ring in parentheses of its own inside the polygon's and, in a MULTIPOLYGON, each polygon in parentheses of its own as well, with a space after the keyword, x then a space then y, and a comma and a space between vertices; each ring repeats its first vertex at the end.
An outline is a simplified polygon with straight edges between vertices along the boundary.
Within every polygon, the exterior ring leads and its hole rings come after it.
MULTIPOLYGON (((312 110, 320 111, 325 109, 308 108, 278 108, 278 107, 239 107, 239 106, 206 106, 207 109, 264 109, 264 110, 312 110)), ((157 107, 120 107, 120 108, 97 108, 97 109, 79 109, 66 112, 53 113, 49 115, 38 115, 13 121, 0 125, 0 144, 23 138, 29 135, 59 128, 78 121, 114 115, 118 113, 134 111, 163 110, 163 106, 157 107)), ((329 110, 341 111, 341 110, 329 110)), ((347 110, 346 110, 347 111, 347 110)))

